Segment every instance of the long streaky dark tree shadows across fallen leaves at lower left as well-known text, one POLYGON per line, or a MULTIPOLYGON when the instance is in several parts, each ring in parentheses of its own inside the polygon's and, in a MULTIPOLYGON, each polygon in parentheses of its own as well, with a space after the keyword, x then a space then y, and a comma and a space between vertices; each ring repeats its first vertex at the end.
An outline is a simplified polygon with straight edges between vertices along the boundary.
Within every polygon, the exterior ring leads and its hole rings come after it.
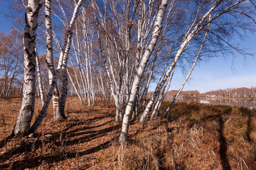
MULTIPOLYGON (((75 158, 77 155, 82 156, 86 154, 95 153, 97 151, 100 151, 101 149, 105 149, 110 146, 111 142, 118 136, 114 135, 115 137, 112 137, 110 140, 99 144, 95 147, 92 147, 91 149, 88 149, 86 151, 82 152, 66 152, 64 151, 66 147, 73 146, 76 144, 86 143, 90 142, 93 139, 100 138, 102 136, 108 135, 109 132, 117 132, 117 129, 119 129, 120 125, 116 124, 111 126, 111 122, 114 120, 111 119, 110 121, 104 122, 100 125, 96 126, 88 126, 88 122, 96 121, 99 119, 107 118, 109 115, 96 117, 92 119, 86 119, 85 121, 76 121, 71 122, 67 125, 67 127, 63 130, 60 130, 56 133, 48 133, 51 135, 50 137, 46 136, 39 136, 37 139, 17 139, 19 140, 18 147, 12 147, 11 149, 7 150, 5 153, 0 155, 0 169, 26 169, 26 168, 35 168, 40 165, 42 165, 43 161, 48 162, 58 162, 58 161, 64 161, 65 159, 75 158), (110 125, 106 128, 95 130, 93 128, 96 127, 103 127, 105 125, 110 125), (81 127, 81 125, 84 125, 85 127, 81 127), (73 128, 70 130, 70 128, 73 128), (73 137, 73 138, 72 138, 73 137), (38 154, 36 151, 38 149, 42 149, 44 147, 49 147, 49 149, 56 151, 61 150, 63 147, 63 151, 59 152, 52 152, 52 153, 45 153, 37 156, 38 154), (21 157, 22 155, 25 155, 25 157, 22 157, 18 161, 10 162, 9 159, 13 157, 21 157), (26 162, 26 163, 25 163, 26 162)), ((9 141, 9 138, 6 138, 0 142, 1 146, 3 147, 6 145, 9 141)), ((13 139, 16 140, 16 139, 13 139)))

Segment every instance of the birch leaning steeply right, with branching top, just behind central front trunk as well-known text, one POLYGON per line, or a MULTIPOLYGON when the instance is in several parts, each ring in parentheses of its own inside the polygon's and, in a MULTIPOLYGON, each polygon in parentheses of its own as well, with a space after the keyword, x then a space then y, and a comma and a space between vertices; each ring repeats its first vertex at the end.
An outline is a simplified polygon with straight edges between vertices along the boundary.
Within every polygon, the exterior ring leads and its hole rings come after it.
MULTIPOLYGON (((230 1, 230 3, 226 3, 223 0, 215 0, 215 1, 211 1, 211 2, 205 0, 205 1, 202 1, 199 4, 199 6, 197 6, 195 15, 192 19, 192 22, 189 23, 189 25, 187 26, 187 30, 183 34, 183 41, 181 42, 180 47, 179 47, 178 51, 175 54, 175 57, 172 61, 171 66, 166 71, 164 78, 161 80, 161 83, 158 86, 156 86, 155 92, 154 92, 152 98, 150 99, 150 101, 148 102, 148 104, 146 106, 146 109, 144 110, 144 112, 143 112, 143 114, 140 118, 141 123, 143 123, 145 121, 149 110, 151 110, 151 107, 152 107, 155 99, 157 98, 157 96, 161 92, 161 89, 165 85, 165 82, 166 82, 167 78, 170 76, 170 74, 171 74, 172 70, 174 69, 174 66, 178 62, 180 56, 188 48, 188 46, 191 45, 192 40, 195 37, 199 36, 201 34, 201 32, 204 30, 204 28, 209 23, 213 23, 216 20, 217 20, 217 23, 218 23, 218 19, 220 18, 220 20, 221 20, 221 17, 224 14, 229 14, 230 13, 230 15, 231 15, 231 13, 232 13, 232 15, 234 15, 234 12, 236 11, 240 14, 243 14, 244 16, 247 16, 247 13, 242 12, 243 10, 248 9, 246 7, 246 5, 244 4, 244 7, 243 7, 243 5, 239 6, 244 1, 245 0, 239 0, 239 1, 232 1, 232 2, 230 1), (208 6, 208 8, 206 8, 207 6, 208 6), (212 13, 214 14, 214 16, 211 17, 210 20, 208 20, 209 15, 212 14, 212 13)), ((234 16, 234 17, 237 17, 237 16, 234 16)), ((251 19, 251 17, 248 17, 248 18, 251 19)), ((221 20, 219 22, 223 22, 223 21, 224 20, 221 20)), ((218 24, 217 23, 216 23, 215 26, 218 26, 219 23, 218 24)), ((233 24, 228 22, 228 23, 226 23, 226 25, 227 25, 227 27, 229 27, 230 25, 233 25, 233 24)), ((235 24, 233 26, 235 26, 235 24)), ((225 25, 223 25, 223 28, 224 27, 225 27, 225 25)), ((215 31, 216 31, 217 34, 221 33, 218 29, 215 29, 215 31)), ((211 33, 213 33, 213 32, 211 32, 211 33)), ((220 35, 219 36, 217 35, 217 37, 219 38, 220 35)), ((223 39, 221 39, 221 40, 223 40, 223 39)), ((231 46, 231 48, 233 48, 233 47, 231 46)))

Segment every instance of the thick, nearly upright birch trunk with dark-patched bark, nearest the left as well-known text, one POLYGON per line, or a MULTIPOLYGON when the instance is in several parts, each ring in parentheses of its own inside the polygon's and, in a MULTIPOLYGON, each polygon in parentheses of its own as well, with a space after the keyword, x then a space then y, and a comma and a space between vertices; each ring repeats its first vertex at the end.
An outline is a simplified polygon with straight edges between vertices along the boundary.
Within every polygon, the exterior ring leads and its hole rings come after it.
POLYGON ((36 92, 36 51, 35 40, 37 37, 37 18, 41 8, 39 0, 28 0, 25 14, 24 29, 24 84, 22 105, 19 111, 18 120, 12 131, 12 136, 26 136, 29 133, 31 119, 35 107, 36 92))

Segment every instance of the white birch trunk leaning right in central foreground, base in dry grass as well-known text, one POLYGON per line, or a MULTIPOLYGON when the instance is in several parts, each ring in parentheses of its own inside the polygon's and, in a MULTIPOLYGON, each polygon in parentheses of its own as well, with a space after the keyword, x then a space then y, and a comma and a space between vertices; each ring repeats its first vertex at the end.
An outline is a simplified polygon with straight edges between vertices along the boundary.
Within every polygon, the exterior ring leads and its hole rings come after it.
POLYGON ((154 30, 152 33, 152 38, 149 42, 148 47, 146 48, 142 59, 137 67, 137 73, 135 74, 133 84, 131 87, 130 91, 130 97, 124 112, 123 116, 123 122, 121 126, 121 131, 119 135, 119 143, 120 144, 127 144, 127 137, 128 137, 128 128, 129 128, 129 121, 130 121, 130 114, 131 110, 133 108, 134 101, 137 96, 137 91, 139 87, 139 83, 141 80, 142 75, 144 74, 144 71, 146 69, 147 62, 149 60, 150 55, 154 51, 155 44, 158 40, 158 37, 161 33, 162 29, 162 20, 165 14, 165 8, 167 7, 168 0, 162 0, 161 4, 159 5, 158 12, 157 12, 157 17, 155 19, 155 24, 154 24, 154 30))

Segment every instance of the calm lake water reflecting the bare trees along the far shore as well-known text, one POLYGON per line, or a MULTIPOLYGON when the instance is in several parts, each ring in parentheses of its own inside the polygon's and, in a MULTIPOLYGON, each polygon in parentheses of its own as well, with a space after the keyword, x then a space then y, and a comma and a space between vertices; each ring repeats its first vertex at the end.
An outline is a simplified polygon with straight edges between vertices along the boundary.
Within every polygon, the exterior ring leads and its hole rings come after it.
MULTIPOLYGON (((165 98, 165 100, 173 101, 173 98, 165 98)), ((256 108, 256 101, 255 100, 238 100, 238 99, 196 99, 196 98, 177 98, 177 101, 181 102, 199 102, 199 103, 206 103, 206 104, 214 104, 214 105, 229 105, 229 106, 238 106, 238 107, 247 107, 247 108, 256 108)))

